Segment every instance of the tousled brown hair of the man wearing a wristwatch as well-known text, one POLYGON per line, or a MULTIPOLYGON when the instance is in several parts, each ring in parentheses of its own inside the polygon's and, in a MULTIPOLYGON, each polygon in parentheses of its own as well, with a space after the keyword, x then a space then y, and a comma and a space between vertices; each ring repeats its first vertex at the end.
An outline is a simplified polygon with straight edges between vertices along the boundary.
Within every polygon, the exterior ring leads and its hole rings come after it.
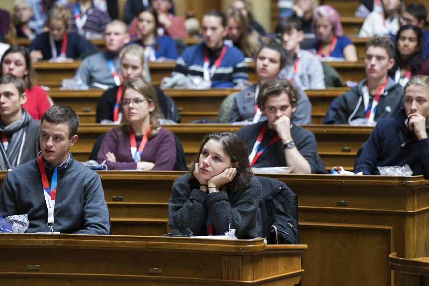
POLYGON ((282 93, 287 93, 291 104, 296 104, 301 97, 298 88, 288 80, 267 80, 260 85, 257 105, 262 109, 269 97, 279 96, 282 93))

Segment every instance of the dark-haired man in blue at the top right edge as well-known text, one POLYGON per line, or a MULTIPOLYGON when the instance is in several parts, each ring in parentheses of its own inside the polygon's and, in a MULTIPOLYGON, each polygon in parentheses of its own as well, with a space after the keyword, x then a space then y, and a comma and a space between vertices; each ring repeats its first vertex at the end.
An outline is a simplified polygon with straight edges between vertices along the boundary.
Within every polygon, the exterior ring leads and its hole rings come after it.
POLYGON ((419 2, 413 2, 406 6, 405 11, 402 14, 401 25, 414 25, 423 32, 422 41, 422 52, 423 58, 428 59, 429 57, 429 30, 423 29, 426 24, 427 11, 425 5, 419 2))

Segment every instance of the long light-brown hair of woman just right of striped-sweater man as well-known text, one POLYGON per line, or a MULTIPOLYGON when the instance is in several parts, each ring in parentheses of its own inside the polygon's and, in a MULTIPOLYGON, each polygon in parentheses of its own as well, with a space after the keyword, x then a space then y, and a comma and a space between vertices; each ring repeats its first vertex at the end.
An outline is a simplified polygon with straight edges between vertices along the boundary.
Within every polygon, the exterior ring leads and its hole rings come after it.
POLYGON ((249 32, 249 22, 246 21, 243 14, 236 8, 228 8, 227 12, 225 12, 225 17, 227 23, 229 19, 234 19, 241 27, 242 31, 238 40, 238 48, 243 52, 245 57, 254 57, 261 46, 257 31, 252 30, 249 32))

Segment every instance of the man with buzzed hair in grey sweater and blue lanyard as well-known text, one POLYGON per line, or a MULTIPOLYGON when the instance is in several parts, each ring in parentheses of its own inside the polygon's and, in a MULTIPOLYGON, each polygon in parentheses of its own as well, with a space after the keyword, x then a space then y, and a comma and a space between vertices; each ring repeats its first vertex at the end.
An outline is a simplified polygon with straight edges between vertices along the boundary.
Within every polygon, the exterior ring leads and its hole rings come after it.
POLYGON ((86 57, 77 69, 75 77, 80 78, 89 87, 108 89, 120 86, 119 53, 129 42, 127 25, 121 20, 109 22, 104 34, 106 52, 86 57))

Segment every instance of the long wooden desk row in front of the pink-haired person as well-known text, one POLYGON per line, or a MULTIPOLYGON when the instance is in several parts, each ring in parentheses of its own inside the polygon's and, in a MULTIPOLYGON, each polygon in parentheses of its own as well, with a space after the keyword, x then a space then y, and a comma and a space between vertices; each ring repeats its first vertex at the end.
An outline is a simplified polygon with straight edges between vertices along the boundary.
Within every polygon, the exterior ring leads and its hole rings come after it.
MULTIPOLYGON (((61 80, 64 78, 72 78, 76 69, 80 65, 80 61, 69 63, 50 63, 48 61, 39 61, 34 63, 34 69, 37 71, 37 83, 49 87, 61 86, 61 80)), ((364 63, 359 62, 328 62, 340 73, 343 81, 348 80, 359 82, 366 77, 364 63)), ((161 84, 161 79, 171 76, 171 73, 176 66, 175 61, 165 62, 150 62, 149 69, 152 77, 152 83, 155 86, 161 84)), ((253 83, 257 81, 255 72, 255 62, 248 62, 249 80, 253 83)))

